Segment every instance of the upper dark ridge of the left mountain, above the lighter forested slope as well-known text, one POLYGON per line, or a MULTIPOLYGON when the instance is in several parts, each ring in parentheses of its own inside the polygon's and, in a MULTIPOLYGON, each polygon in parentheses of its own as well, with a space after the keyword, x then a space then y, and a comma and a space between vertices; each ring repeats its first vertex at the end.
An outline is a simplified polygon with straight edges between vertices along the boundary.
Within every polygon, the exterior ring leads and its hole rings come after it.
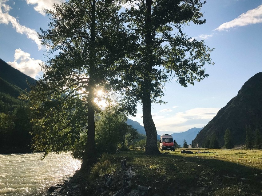
POLYGON ((34 78, 31 78, 30 76, 15 69, 2 59, 0 59, 0 77, 6 82, 18 86, 22 90, 30 89, 26 81, 28 81, 30 84, 36 83, 34 78))

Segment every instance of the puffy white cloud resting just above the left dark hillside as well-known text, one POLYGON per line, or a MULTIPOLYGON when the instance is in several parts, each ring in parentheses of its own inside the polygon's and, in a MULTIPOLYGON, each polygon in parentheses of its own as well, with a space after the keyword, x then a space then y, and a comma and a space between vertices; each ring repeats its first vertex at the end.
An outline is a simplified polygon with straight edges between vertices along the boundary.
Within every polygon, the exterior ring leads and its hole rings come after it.
POLYGON ((30 58, 30 54, 22 51, 21 49, 15 49, 14 62, 7 62, 12 67, 18 69, 26 75, 36 78, 39 76, 38 73, 41 71, 42 60, 35 60, 30 58))

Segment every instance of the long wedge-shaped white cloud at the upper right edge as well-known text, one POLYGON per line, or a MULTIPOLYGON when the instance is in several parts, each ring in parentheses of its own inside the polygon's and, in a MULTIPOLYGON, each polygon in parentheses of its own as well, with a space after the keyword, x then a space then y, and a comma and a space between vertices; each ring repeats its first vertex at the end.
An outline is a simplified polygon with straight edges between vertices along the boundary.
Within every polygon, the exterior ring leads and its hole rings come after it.
POLYGON ((262 5, 253 10, 248 10, 246 13, 242 13, 239 17, 232 21, 225 22, 214 30, 223 31, 233 27, 246 26, 249 24, 256 24, 262 22, 262 5))

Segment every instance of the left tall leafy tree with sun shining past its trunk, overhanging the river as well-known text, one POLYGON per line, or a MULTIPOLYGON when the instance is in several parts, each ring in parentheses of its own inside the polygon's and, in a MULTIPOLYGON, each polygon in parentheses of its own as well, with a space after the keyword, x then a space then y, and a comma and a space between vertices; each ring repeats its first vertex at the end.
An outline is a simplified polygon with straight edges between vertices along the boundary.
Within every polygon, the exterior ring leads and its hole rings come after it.
MULTIPOLYGON (((87 132, 82 165, 92 161, 96 91, 109 88, 108 78, 115 77, 111 72, 114 62, 125 53, 120 8, 110 0, 69 0, 46 10, 51 22, 49 29, 41 29, 39 38, 50 48, 50 54, 59 54, 42 65, 43 77, 29 96, 36 113, 45 113, 35 119, 38 132, 48 130, 39 133, 46 138, 35 139, 57 138, 43 143, 44 156, 51 151, 71 150, 87 132)), ((35 148, 40 146, 40 142, 34 144, 35 148)))

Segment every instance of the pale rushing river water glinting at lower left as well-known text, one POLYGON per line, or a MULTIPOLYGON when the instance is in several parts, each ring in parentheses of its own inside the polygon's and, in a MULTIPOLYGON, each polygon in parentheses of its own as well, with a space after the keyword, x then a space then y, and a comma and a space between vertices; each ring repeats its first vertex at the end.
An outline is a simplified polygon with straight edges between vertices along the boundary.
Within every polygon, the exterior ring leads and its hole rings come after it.
POLYGON ((43 196, 46 190, 80 168, 70 153, 0 154, 0 196, 43 196))

